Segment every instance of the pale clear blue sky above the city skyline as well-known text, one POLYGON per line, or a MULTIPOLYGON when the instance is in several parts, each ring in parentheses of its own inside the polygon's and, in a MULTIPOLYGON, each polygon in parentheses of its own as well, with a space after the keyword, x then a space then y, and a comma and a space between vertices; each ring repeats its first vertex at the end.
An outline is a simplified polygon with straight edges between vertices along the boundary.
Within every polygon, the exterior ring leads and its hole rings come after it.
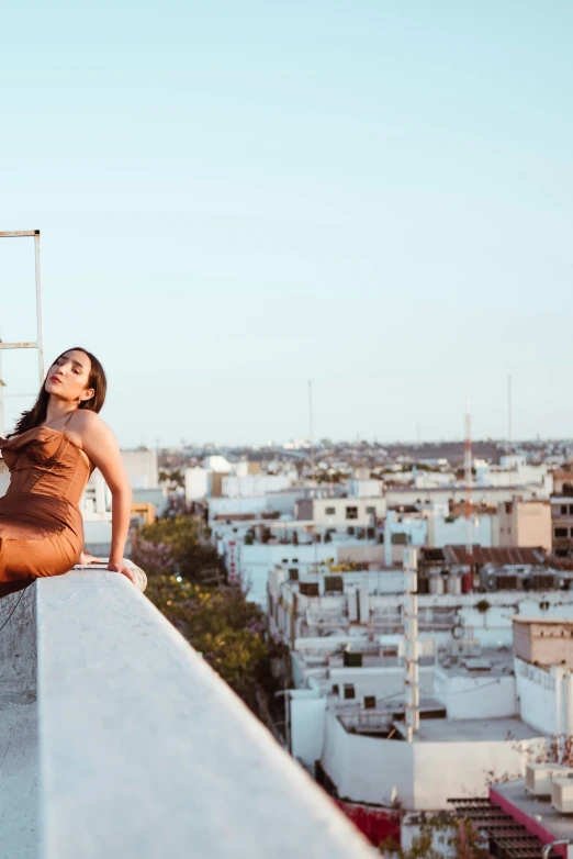
POLYGON ((305 435, 308 379, 318 437, 460 437, 467 395, 502 437, 509 373, 515 435, 571 436, 572 32, 570 0, 9 4, 0 228, 42 230, 48 355, 101 358, 123 445, 305 435))

